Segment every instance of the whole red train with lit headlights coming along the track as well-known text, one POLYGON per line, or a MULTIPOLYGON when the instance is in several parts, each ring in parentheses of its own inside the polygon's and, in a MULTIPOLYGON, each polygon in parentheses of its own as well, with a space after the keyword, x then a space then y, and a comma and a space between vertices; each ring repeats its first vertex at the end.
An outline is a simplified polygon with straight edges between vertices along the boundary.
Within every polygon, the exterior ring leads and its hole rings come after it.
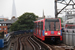
POLYGON ((44 18, 34 21, 34 36, 45 41, 62 41, 61 19, 44 18))

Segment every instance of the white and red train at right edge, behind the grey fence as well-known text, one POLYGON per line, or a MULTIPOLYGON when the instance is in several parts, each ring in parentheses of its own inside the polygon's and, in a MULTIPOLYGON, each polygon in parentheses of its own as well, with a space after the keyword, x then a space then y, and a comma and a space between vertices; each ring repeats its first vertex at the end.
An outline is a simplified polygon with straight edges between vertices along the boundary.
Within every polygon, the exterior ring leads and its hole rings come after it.
POLYGON ((64 30, 66 32, 75 32, 75 19, 69 19, 65 22, 64 30))

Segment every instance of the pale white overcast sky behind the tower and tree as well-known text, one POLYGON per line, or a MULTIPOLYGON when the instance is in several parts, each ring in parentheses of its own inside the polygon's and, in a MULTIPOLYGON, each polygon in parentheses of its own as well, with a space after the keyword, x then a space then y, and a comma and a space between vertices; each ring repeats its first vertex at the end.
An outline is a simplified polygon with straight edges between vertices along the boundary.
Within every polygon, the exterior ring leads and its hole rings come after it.
MULTIPOLYGON (((12 4, 13 0, 0 0, 0 16, 11 18, 12 4)), ((31 12, 39 17, 42 17, 43 10, 45 16, 55 16, 54 0, 15 0, 15 6, 17 17, 26 12, 31 12)), ((59 5, 58 8, 62 7, 63 6, 59 5)))

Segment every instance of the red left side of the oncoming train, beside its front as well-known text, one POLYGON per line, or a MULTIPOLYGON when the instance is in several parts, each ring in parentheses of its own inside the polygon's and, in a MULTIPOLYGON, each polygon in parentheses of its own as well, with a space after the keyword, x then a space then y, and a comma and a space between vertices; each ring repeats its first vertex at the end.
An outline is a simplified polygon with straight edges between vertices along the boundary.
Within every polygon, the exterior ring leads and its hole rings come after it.
POLYGON ((36 37, 40 38, 41 40, 45 40, 45 37, 44 37, 45 19, 40 20, 40 21, 36 21, 36 22, 34 22, 34 23, 37 23, 37 26, 36 26, 37 28, 34 29, 34 30, 36 30, 36 33, 35 33, 35 31, 34 31, 34 35, 35 35, 36 37), (41 27, 42 27, 42 28, 38 28, 38 27, 39 27, 39 22, 42 23, 42 24, 41 24, 41 27))

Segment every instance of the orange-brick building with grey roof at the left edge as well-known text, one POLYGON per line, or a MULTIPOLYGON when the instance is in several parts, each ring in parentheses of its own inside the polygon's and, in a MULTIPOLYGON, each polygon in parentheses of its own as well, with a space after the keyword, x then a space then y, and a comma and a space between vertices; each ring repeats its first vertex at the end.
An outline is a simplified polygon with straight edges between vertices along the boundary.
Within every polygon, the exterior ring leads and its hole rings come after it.
POLYGON ((12 25, 12 23, 14 23, 17 20, 18 20, 18 18, 12 18, 11 20, 0 22, 0 32, 4 31, 5 34, 9 33, 10 26, 12 25))

